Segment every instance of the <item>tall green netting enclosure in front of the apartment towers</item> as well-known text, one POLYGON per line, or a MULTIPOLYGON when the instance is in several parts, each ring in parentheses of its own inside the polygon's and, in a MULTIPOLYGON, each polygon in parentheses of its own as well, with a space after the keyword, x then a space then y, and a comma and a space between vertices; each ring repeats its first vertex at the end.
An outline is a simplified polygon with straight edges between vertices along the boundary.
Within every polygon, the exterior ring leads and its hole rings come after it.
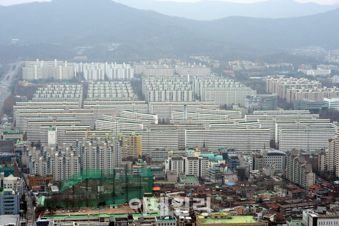
POLYGON ((83 206, 121 204, 152 193, 150 169, 86 169, 61 181, 60 194, 83 200, 83 206))

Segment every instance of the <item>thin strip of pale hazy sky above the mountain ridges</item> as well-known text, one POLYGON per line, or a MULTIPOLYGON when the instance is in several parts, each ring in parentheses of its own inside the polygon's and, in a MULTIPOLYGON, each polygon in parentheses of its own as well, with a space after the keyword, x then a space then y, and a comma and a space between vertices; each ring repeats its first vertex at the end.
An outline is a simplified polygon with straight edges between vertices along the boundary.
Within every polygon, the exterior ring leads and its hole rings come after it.
MULTIPOLYGON (((28 2, 48 2, 51 0, 0 0, 0 5, 9 6, 19 3, 28 3, 28 2)), ((113 0, 114 1, 114 0, 113 0)), ((140 0, 142 1, 142 0, 140 0)), ((175 1, 175 2, 198 2, 200 0, 158 0, 158 1, 175 1)), ((213 0, 211 0, 213 1, 213 0)), ((262 2, 266 0, 218 0, 218 1, 226 1, 226 2, 235 2, 235 3, 255 3, 255 2, 262 2)), ((309 3, 314 2, 318 4, 335 4, 339 3, 339 0, 295 0, 299 3, 309 3)))

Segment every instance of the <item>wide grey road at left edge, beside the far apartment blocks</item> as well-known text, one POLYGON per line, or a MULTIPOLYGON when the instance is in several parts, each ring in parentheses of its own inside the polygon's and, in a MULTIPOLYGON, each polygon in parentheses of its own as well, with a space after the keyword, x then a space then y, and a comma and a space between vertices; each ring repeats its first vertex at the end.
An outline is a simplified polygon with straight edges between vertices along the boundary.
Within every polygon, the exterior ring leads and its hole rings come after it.
POLYGON ((1 78, 0 81, 0 109, 3 107, 4 102, 6 98, 10 95, 10 88, 9 86, 12 85, 12 81, 16 74, 18 73, 19 66, 22 62, 17 61, 13 64, 11 64, 11 67, 7 74, 4 74, 4 76, 1 78), (15 65, 15 69, 13 70, 13 65, 15 65), (8 79, 7 79, 8 78, 8 79))

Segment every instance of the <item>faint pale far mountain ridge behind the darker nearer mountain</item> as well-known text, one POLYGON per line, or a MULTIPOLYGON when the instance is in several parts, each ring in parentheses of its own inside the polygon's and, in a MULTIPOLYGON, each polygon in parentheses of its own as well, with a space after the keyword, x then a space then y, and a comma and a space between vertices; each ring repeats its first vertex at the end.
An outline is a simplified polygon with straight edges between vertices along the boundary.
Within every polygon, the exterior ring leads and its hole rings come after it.
POLYGON ((267 0, 257 3, 233 3, 225 1, 172 2, 156 0, 112 0, 141 10, 195 20, 215 20, 228 16, 263 18, 288 18, 314 15, 339 8, 339 5, 298 3, 294 0, 267 0))

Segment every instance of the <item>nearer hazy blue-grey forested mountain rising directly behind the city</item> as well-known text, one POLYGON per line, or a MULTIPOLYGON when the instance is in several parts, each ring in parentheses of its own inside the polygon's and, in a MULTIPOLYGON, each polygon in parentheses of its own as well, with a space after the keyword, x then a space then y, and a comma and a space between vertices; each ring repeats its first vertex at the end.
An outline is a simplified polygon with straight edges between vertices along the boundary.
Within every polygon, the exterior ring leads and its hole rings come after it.
MULTIPOLYGON (((225 55, 301 46, 339 48, 339 9, 268 19, 232 16, 213 21, 171 17, 110 0, 54 0, 0 7, 0 44, 104 45, 126 56, 225 55), (330 32, 329 32, 330 31, 330 32)), ((126 57, 127 58, 127 57, 126 57)))

